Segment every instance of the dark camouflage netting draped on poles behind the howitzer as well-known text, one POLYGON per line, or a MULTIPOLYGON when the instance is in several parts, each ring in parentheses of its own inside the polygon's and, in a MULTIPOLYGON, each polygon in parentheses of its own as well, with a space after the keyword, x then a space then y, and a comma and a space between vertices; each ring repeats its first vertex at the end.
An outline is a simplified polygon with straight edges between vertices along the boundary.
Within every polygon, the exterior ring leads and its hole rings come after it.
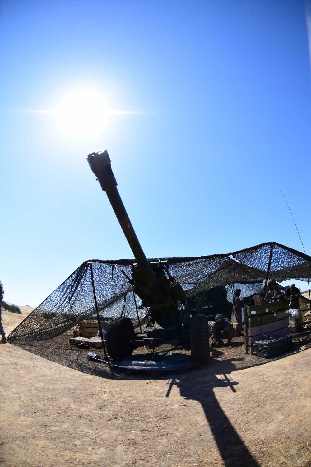
MULTIPOLYGON (((242 289, 242 297, 263 290, 271 255, 269 278, 283 282, 287 279, 307 281, 310 278, 311 257, 278 243, 262 243, 252 248, 229 253, 191 258, 166 258, 172 276, 186 290, 187 297, 219 285, 227 286, 228 299, 233 288, 242 289)), ((163 258, 161 258, 163 259, 163 258)), ((154 258, 157 261, 159 258, 154 258)), ((141 300, 133 293, 123 270, 131 276, 134 260, 84 262, 51 295, 44 300, 8 336, 10 341, 52 339, 65 333, 79 322, 95 320, 90 264, 94 275, 97 304, 101 320, 127 316, 138 325, 137 313, 145 322, 145 310, 136 309, 141 300)), ((309 300, 305 304, 306 309, 309 300)))

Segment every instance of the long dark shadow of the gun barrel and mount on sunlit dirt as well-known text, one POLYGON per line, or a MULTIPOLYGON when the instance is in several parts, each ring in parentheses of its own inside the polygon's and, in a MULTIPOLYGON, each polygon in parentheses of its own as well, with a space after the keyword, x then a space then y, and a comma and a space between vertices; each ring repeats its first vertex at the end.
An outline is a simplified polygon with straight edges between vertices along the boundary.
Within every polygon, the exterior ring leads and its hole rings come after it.
POLYGON ((221 387, 226 390, 230 388, 232 392, 236 392, 235 386, 238 382, 233 381, 230 376, 230 373, 235 371, 235 364, 228 360, 211 360, 208 367, 202 368, 203 371, 200 371, 200 375, 197 377, 192 372, 191 378, 187 378, 187 376, 182 376, 180 380, 174 378, 169 383, 166 397, 170 396, 173 385, 176 385, 180 389, 180 396, 200 402, 226 467, 241 465, 259 467, 222 410, 213 390, 216 387, 221 387))

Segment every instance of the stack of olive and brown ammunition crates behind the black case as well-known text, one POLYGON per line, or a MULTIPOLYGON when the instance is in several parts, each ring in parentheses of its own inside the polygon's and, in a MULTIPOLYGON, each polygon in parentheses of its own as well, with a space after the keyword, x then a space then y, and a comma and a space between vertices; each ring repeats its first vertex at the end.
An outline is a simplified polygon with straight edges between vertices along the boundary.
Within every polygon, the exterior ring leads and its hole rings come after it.
POLYGON ((290 334, 288 305, 285 299, 244 307, 246 354, 253 355, 256 340, 265 340, 265 336, 277 338, 290 334))

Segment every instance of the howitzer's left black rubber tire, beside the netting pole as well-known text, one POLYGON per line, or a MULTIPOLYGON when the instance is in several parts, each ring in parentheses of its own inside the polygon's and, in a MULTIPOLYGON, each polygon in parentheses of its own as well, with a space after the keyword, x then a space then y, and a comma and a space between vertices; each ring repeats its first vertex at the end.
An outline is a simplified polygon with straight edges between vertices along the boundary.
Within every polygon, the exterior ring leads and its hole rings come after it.
POLYGON ((131 336, 135 334, 129 318, 114 318, 107 329, 106 346, 112 360, 123 360, 133 353, 131 336))

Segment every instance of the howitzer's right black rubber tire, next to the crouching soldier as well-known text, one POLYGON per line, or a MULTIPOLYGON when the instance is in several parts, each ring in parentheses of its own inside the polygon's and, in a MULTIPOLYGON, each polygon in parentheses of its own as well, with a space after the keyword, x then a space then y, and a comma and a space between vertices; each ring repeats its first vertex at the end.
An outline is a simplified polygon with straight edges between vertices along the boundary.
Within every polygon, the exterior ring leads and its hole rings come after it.
POLYGON ((208 323, 205 315, 194 315, 190 321, 190 348, 192 360, 207 363, 209 360, 208 323))

